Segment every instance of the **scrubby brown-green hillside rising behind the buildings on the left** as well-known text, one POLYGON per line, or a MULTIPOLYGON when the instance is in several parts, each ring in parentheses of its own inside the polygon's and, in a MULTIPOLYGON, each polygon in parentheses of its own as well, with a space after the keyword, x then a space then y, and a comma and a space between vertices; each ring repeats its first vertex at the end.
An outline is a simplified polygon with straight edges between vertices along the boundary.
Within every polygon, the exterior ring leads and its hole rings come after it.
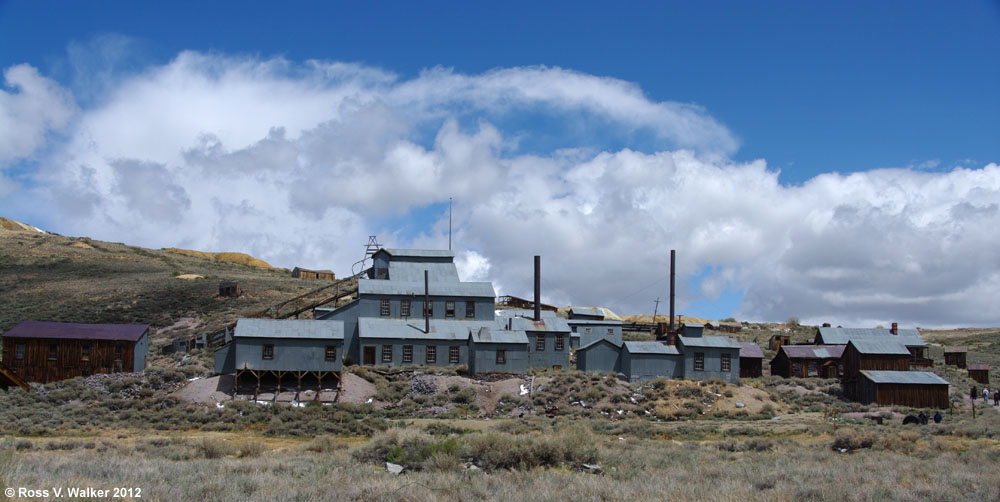
MULTIPOLYGON (((0 332, 28 320, 174 325, 190 335, 329 284, 241 253, 154 250, 0 219, 0 332), (181 276, 202 276, 187 279, 181 276), (218 297, 220 280, 244 295, 218 297)), ((154 338, 157 338, 154 336, 154 338)))

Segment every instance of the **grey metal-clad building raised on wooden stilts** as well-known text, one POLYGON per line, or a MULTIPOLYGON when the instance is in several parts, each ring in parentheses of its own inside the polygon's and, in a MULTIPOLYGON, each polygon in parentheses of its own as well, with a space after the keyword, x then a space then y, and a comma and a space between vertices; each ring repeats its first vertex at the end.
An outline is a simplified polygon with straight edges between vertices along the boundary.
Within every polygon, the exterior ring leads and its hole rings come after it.
POLYGON ((342 322, 240 319, 215 351, 215 372, 235 373, 237 392, 337 388, 343 354, 342 322))

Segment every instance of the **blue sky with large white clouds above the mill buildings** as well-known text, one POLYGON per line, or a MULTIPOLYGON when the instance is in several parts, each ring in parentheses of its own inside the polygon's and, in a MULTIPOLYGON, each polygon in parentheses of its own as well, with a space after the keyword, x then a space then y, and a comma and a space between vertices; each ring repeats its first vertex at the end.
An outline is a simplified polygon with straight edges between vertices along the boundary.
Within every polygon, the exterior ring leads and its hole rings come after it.
POLYGON ((0 215, 624 314, 998 326, 1000 2, 0 0, 0 215))

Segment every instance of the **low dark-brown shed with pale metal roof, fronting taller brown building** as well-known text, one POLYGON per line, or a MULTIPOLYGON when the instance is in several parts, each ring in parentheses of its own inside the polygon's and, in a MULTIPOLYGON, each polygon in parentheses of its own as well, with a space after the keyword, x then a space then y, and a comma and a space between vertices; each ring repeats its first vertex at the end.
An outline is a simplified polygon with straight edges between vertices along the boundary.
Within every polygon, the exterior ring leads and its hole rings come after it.
POLYGON ((947 408, 948 382, 929 371, 859 372, 858 401, 883 406, 947 408))

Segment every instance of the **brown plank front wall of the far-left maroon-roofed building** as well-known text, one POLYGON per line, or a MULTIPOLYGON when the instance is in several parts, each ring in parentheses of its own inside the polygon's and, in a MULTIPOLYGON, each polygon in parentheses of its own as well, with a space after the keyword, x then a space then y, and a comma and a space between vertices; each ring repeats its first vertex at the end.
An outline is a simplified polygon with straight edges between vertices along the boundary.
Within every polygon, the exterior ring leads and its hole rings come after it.
POLYGON ((65 338, 3 338, 3 362, 11 371, 29 382, 49 383, 95 373, 131 372, 135 362, 135 344, 114 340, 75 340, 65 338), (24 344, 24 358, 16 359, 16 345, 24 344), (56 359, 49 360, 49 346, 56 346, 56 359), (83 360, 83 346, 90 345, 90 356, 83 360), (115 354, 121 346, 121 356, 115 354), (120 362, 118 362, 120 361, 120 362))

